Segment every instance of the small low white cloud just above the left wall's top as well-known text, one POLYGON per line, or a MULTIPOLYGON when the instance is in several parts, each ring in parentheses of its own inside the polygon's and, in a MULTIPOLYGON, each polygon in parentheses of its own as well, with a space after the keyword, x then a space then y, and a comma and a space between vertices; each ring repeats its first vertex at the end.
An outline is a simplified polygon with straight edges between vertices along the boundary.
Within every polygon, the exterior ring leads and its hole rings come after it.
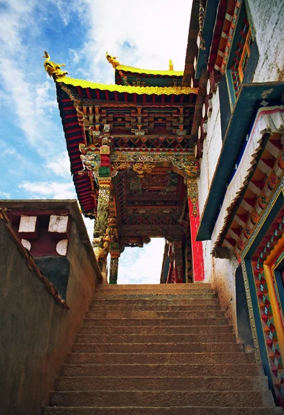
POLYGON ((32 199, 76 199, 73 183, 30 182, 19 184, 19 189, 25 190, 32 199))

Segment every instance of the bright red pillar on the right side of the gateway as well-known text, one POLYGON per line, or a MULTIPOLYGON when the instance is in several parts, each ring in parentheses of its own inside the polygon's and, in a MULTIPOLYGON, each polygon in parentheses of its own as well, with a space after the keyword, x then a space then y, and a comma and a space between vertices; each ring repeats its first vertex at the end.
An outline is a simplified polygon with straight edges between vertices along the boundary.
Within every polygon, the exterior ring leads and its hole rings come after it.
POLYGON ((192 201, 188 199, 189 208, 189 223, 190 223, 190 237, 191 249, 193 254, 193 282, 204 281, 204 261, 202 242, 195 241, 197 229, 199 227, 200 217, 198 202, 193 206, 192 201))

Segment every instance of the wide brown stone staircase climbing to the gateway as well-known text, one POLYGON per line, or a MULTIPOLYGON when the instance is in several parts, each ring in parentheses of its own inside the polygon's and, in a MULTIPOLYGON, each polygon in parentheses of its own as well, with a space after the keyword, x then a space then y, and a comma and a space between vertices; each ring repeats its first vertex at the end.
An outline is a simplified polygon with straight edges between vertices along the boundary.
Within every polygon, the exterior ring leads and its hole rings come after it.
POLYGON ((209 284, 101 286, 44 415, 270 415, 209 284))

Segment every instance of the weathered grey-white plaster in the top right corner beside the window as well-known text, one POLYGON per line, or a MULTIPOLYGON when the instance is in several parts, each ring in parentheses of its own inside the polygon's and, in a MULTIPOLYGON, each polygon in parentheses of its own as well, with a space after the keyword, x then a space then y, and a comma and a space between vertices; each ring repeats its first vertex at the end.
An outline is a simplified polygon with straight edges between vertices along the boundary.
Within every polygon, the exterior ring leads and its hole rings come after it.
POLYGON ((247 0, 247 3, 260 55, 253 82, 284 80, 284 2, 247 0))

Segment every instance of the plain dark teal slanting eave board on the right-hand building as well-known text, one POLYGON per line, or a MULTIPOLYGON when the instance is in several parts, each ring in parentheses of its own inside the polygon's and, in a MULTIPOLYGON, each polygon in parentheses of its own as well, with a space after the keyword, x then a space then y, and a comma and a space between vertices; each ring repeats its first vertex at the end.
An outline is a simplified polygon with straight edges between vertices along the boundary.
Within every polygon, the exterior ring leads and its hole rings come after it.
POLYGON ((197 241, 211 239, 215 222, 218 219, 220 206, 223 203, 226 185, 231 176, 232 167, 245 140, 251 117, 257 102, 278 98, 284 91, 284 82, 266 82, 261 84, 242 84, 227 128, 218 165, 211 183, 204 206, 202 218, 197 232, 197 241))

